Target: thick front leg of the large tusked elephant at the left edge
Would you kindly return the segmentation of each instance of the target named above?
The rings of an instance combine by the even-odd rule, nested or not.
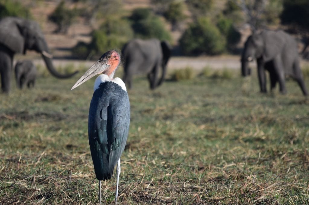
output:
[[[13,54],[0,49],[1,89],[5,93],[11,90],[12,58]]]

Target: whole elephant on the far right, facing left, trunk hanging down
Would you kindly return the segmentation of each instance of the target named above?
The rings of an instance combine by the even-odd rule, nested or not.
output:
[[[281,94],[286,94],[285,77],[291,76],[307,96],[303,74],[299,65],[296,41],[282,30],[262,30],[248,37],[241,56],[243,76],[250,75],[248,63],[256,59],[260,91],[266,93],[265,70],[269,72],[270,90],[279,82]]]

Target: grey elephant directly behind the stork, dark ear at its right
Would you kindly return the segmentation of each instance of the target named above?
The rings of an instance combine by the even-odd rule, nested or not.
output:
[[[133,39],[122,49],[124,59],[123,81],[130,89],[134,74],[147,74],[150,89],[155,89],[164,81],[166,65],[171,56],[171,48],[158,39]],[[158,79],[160,68],[162,76]]]

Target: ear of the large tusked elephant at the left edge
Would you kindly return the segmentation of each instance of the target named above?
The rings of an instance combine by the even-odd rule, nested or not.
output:
[[[15,53],[23,53],[25,39],[20,32],[20,18],[6,17],[0,21],[0,43]]]

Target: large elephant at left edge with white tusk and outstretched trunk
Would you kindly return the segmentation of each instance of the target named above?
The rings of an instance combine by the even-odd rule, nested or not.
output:
[[[0,28],[0,75],[1,88],[4,93],[8,93],[11,88],[14,54],[26,54],[26,50],[35,50],[40,53],[49,72],[57,78],[70,78],[78,72],[70,74],[57,72],[44,35],[35,21],[19,17],[5,17],[0,20]]]

